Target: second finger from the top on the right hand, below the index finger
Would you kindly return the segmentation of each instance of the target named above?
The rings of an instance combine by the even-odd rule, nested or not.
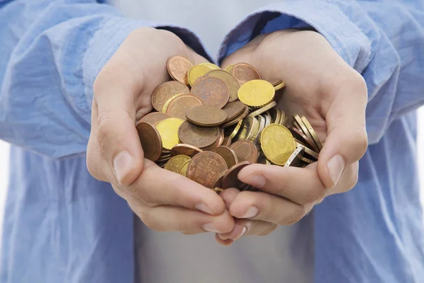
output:
[[[230,214],[240,219],[254,219],[279,225],[292,225],[312,209],[266,192],[240,192],[230,205]]]

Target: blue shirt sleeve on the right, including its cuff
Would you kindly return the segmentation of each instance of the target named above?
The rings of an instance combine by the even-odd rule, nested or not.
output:
[[[307,26],[365,78],[370,144],[393,120],[423,105],[421,1],[287,0],[264,6],[228,33],[218,62],[261,33]]]

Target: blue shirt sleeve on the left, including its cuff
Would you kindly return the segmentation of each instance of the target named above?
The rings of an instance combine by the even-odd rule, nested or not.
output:
[[[51,158],[85,152],[94,80],[143,26],[171,30],[209,58],[188,30],[97,1],[0,0],[0,139]]]

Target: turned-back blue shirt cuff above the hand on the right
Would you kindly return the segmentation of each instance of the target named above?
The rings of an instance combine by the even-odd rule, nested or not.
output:
[[[345,62],[361,73],[370,62],[371,43],[367,33],[371,32],[371,27],[367,27],[367,21],[361,25],[360,21],[351,20],[360,17],[368,18],[362,9],[343,6],[341,1],[289,0],[270,4],[251,13],[228,33],[220,45],[217,61],[222,62],[261,33],[310,26],[329,41]]]

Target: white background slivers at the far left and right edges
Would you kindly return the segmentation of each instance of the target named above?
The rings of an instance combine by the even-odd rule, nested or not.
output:
[[[418,110],[418,144],[424,144],[424,108]],[[424,204],[424,149],[418,146],[419,171],[421,177],[421,202]],[[4,201],[8,177],[8,144],[0,141],[0,231],[4,217]],[[0,233],[1,235],[1,233]],[[1,237],[1,236],[0,236]]]

